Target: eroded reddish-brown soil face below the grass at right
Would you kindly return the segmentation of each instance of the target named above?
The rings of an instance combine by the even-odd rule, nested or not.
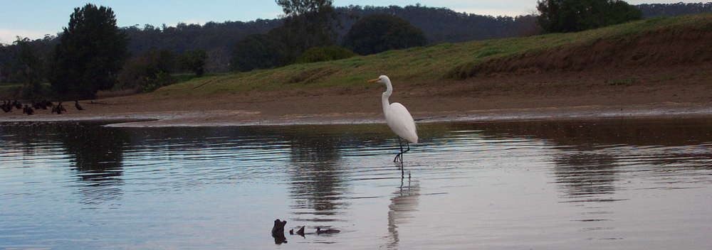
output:
[[[493,58],[477,65],[461,65],[451,77],[493,74],[530,74],[595,69],[672,67],[712,62],[712,32],[708,28],[663,29],[631,37],[595,40],[521,55]]]

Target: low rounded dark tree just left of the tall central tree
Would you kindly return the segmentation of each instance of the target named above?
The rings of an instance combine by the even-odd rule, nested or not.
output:
[[[242,72],[284,65],[286,48],[271,36],[247,36],[235,45],[231,66]]]

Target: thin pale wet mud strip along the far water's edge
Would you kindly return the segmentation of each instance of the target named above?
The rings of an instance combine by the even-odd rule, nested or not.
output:
[[[227,115],[226,115],[227,114]],[[528,120],[589,120],[589,119],[676,119],[712,117],[712,107],[695,104],[653,104],[632,107],[582,106],[563,108],[486,109],[466,112],[414,112],[416,123],[493,122]],[[329,113],[264,115],[244,110],[214,110],[209,112],[141,112],[114,115],[79,114],[72,116],[0,117],[0,124],[106,121],[104,126],[124,128],[200,127],[200,126],[290,126],[327,124],[384,124],[379,113]],[[112,123],[115,121],[115,123]]]

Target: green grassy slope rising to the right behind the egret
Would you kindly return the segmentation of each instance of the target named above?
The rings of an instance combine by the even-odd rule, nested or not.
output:
[[[599,40],[629,40],[659,30],[712,31],[712,13],[650,18],[579,33],[554,33],[525,38],[444,43],[391,50],[345,60],[288,65],[271,70],[200,77],[158,89],[159,95],[230,94],[250,90],[288,90],[322,87],[368,88],[365,81],[389,75],[398,82],[426,84],[454,77],[458,70],[495,58],[542,50],[593,44]]]

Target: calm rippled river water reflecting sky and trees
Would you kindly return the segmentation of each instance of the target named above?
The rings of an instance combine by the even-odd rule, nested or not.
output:
[[[712,119],[1,124],[0,249],[711,249]],[[286,235],[305,226],[337,234]]]

